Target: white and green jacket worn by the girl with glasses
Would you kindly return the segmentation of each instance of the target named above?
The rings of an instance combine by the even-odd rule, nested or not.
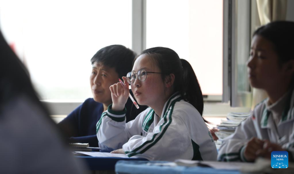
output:
[[[128,157],[148,160],[216,160],[217,149],[201,115],[193,105],[174,94],[159,117],[147,108],[125,123],[125,110],[108,110],[97,123],[101,151],[121,149]]]

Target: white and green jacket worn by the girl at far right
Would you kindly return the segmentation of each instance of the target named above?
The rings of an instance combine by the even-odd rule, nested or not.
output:
[[[268,100],[256,105],[252,115],[224,140],[219,150],[219,161],[246,161],[244,150],[252,137],[281,145],[293,160],[294,93],[288,92],[271,105],[268,105]]]

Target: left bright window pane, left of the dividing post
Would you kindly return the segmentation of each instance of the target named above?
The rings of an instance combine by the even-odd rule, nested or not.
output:
[[[17,5],[16,5],[17,4]],[[1,0],[0,25],[42,99],[92,96],[92,56],[132,45],[131,0]]]

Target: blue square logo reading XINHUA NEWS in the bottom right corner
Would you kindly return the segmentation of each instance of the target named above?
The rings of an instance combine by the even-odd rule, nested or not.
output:
[[[271,168],[286,169],[288,168],[288,151],[271,152]]]

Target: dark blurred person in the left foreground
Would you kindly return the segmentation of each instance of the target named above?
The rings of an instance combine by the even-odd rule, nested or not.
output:
[[[41,65],[42,66],[42,65]],[[0,32],[0,173],[79,174],[28,72]]]

